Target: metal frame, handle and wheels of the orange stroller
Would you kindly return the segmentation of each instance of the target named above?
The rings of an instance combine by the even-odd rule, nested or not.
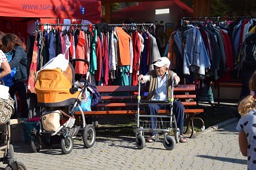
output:
[[[73,61],[86,62],[86,64],[88,65],[88,70],[90,68],[90,64],[87,60],[83,60],[83,59],[70,60],[70,62],[73,62]],[[32,146],[33,152],[39,152],[40,149],[42,149],[42,141],[46,146],[51,145],[51,136],[58,135],[58,136],[61,136],[62,153],[68,154],[73,149],[73,145],[74,145],[73,140],[74,138],[76,138],[77,134],[79,133],[79,130],[83,130],[82,137],[83,137],[84,146],[86,148],[89,148],[94,145],[95,139],[96,139],[96,131],[94,126],[92,126],[92,124],[86,125],[85,115],[83,114],[83,110],[80,107],[80,100],[79,100],[79,98],[82,97],[82,94],[86,91],[86,88],[88,88],[88,77],[89,77],[89,71],[86,74],[86,80],[82,80],[79,82],[79,87],[73,86],[70,89],[70,91],[72,91],[73,94],[79,91],[79,95],[76,98],[76,101],[74,102],[74,105],[71,107],[71,109],[70,107],[68,107],[68,114],[64,113],[64,111],[61,110],[61,114],[64,114],[65,116],[69,117],[68,121],[62,124],[55,132],[43,131],[43,126],[41,121],[38,121],[38,124],[37,124],[38,128],[34,127],[32,129],[30,145]],[[76,106],[79,108],[80,112],[82,113],[83,124],[81,126],[74,126],[74,111]],[[63,107],[67,107],[67,106],[63,106]],[[41,137],[44,137],[43,140],[41,139]]]

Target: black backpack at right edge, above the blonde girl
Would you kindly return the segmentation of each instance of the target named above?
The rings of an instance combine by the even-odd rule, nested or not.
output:
[[[245,39],[245,68],[256,68],[256,33],[251,34]]]

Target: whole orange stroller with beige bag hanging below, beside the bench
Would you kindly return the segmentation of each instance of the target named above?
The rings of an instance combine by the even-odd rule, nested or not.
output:
[[[70,62],[72,61],[85,62],[89,70],[87,60],[70,60]],[[86,75],[86,81],[80,83],[81,86],[74,86],[74,68],[69,62],[65,72],[60,68],[42,69],[38,72],[35,91],[38,106],[42,107],[42,117],[38,121],[38,127],[33,128],[31,132],[30,144],[33,152],[39,152],[42,143],[45,143],[46,146],[51,145],[51,136],[58,135],[61,138],[62,153],[68,154],[73,149],[73,140],[79,130],[83,130],[82,137],[85,147],[89,148],[94,145],[95,128],[92,124],[86,125],[85,116],[80,107],[80,99],[88,87],[88,76],[89,72]],[[76,107],[79,107],[82,113],[83,125],[81,126],[74,126]],[[48,115],[50,116],[48,117]],[[48,119],[48,121],[45,121],[45,119]],[[60,124],[60,120],[63,124]]]

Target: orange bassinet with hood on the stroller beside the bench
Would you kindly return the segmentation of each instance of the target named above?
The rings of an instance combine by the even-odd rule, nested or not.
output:
[[[74,104],[79,92],[70,93],[72,86],[70,65],[65,72],[61,69],[43,69],[38,72],[35,91],[40,107],[63,107]]]

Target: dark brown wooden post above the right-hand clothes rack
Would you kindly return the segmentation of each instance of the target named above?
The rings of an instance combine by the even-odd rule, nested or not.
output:
[[[210,0],[193,0],[193,17],[209,17]]]

